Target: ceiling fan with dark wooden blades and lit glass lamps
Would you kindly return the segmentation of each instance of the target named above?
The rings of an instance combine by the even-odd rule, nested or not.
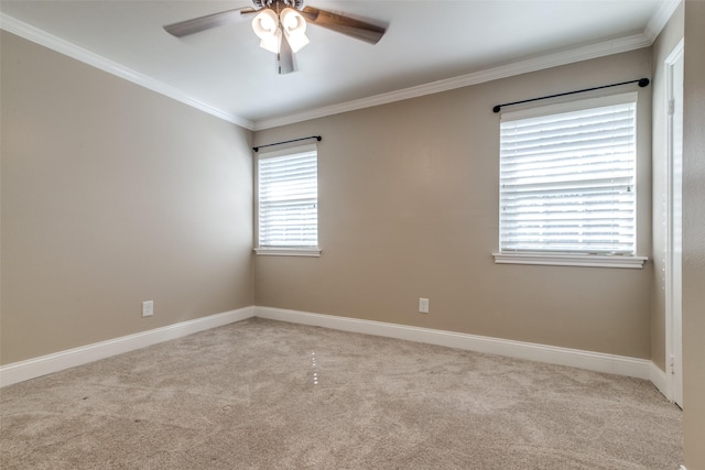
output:
[[[294,72],[294,53],[308,44],[306,24],[315,24],[337,33],[377,44],[384,28],[338,13],[304,7],[304,0],[252,0],[254,8],[238,8],[194,18],[164,26],[167,33],[182,37],[253,15],[252,29],[260,47],[276,54],[279,74]]]

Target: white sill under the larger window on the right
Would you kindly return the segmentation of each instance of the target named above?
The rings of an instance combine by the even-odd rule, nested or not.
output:
[[[646,256],[622,254],[492,253],[496,264],[540,264],[549,266],[625,267],[641,270]]]

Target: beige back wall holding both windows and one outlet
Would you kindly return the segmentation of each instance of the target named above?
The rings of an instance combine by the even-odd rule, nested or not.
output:
[[[651,51],[257,132],[323,135],[319,259],[257,256],[257,305],[650,358],[642,271],[497,265],[492,106],[651,76]],[[651,89],[639,90],[639,254],[651,256]],[[417,311],[419,297],[431,313]]]

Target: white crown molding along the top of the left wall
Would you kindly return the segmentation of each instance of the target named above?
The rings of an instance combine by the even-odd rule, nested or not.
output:
[[[239,116],[235,116],[232,113],[218,109],[215,106],[208,105],[207,102],[204,102],[188,94],[185,94],[177,88],[159,81],[129,67],[124,67],[113,61],[102,57],[68,41],[62,40],[61,37],[42,31],[39,28],[32,26],[2,12],[0,12],[0,29],[12,34],[17,34],[18,36],[23,37],[28,41],[32,41],[33,43],[43,45],[44,47],[48,47],[52,51],[56,51],[61,54],[67,55],[72,58],[75,58],[76,61],[83,62],[84,64],[88,64],[93,67],[99,68],[104,72],[107,72],[108,74],[123,78],[160,95],[164,95],[169,98],[175,99],[176,101],[181,101],[184,105],[188,105],[208,114],[215,116],[216,118],[240,125],[245,129],[253,130],[254,128],[252,121],[242,119]]]

